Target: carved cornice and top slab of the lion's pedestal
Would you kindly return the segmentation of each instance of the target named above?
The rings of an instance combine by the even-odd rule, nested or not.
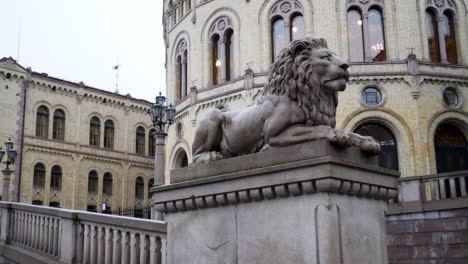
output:
[[[151,191],[155,209],[166,213],[316,193],[393,199],[399,173],[374,162],[320,140],[174,170],[171,185]]]

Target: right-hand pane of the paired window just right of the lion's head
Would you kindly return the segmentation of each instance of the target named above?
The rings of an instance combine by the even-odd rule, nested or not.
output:
[[[379,10],[369,12],[369,42],[373,61],[385,60],[385,41],[382,13]]]

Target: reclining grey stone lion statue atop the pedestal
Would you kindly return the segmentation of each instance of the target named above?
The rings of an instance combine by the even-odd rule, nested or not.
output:
[[[293,41],[270,67],[257,104],[239,111],[212,109],[197,127],[193,162],[328,139],[378,154],[371,137],[335,129],[338,92],[349,79],[348,65],[330,51],[325,39]]]

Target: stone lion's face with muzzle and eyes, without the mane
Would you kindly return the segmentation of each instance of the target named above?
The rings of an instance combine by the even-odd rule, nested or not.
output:
[[[349,80],[348,64],[327,48],[313,48],[311,65],[314,65],[322,89],[341,92]]]

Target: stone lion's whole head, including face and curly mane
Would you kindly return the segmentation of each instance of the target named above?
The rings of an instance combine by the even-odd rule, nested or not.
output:
[[[270,67],[265,94],[288,95],[304,110],[307,125],[336,125],[338,92],[346,89],[348,65],[321,38],[293,41]]]

